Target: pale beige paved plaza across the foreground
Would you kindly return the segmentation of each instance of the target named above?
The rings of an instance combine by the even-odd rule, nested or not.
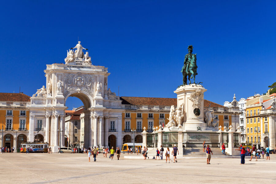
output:
[[[276,156],[240,165],[240,159],[213,158],[165,160],[103,158],[88,162],[86,154],[3,153],[2,183],[257,183],[276,181]],[[115,157],[114,157],[115,158]],[[181,175],[180,175],[181,174]]]

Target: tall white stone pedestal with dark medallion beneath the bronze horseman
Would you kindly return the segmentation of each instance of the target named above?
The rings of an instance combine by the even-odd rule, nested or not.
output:
[[[203,86],[190,84],[180,86],[174,93],[177,94],[177,106],[184,103],[184,117],[182,119],[182,130],[197,131],[207,130],[204,122],[204,95],[207,91]]]

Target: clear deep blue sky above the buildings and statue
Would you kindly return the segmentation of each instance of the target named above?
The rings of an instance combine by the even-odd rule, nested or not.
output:
[[[1,92],[34,94],[46,64],[64,62],[78,36],[120,96],[176,98],[190,44],[205,99],[223,104],[276,82],[275,1],[9,2],[0,7]]]

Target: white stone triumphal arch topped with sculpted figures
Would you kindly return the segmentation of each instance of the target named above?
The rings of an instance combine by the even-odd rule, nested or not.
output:
[[[88,52],[84,53],[88,49],[80,43],[67,50],[64,63],[47,64],[44,70],[46,87],[42,86],[31,97],[29,141],[33,141],[34,135],[39,133],[54,152],[58,151],[59,141],[64,146],[68,97],[79,98],[85,107],[84,147],[108,145],[110,119],[114,120],[118,129],[122,126],[121,100],[108,89],[108,68],[95,66]],[[42,126],[37,123],[38,119],[42,120]],[[118,144],[121,145],[120,142]]]

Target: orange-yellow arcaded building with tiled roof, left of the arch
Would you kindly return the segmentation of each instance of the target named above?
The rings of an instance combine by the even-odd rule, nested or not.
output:
[[[0,122],[3,124],[0,147],[3,145],[5,148],[17,149],[22,142],[27,141],[29,103],[30,97],[23,93],[0,93]]]

